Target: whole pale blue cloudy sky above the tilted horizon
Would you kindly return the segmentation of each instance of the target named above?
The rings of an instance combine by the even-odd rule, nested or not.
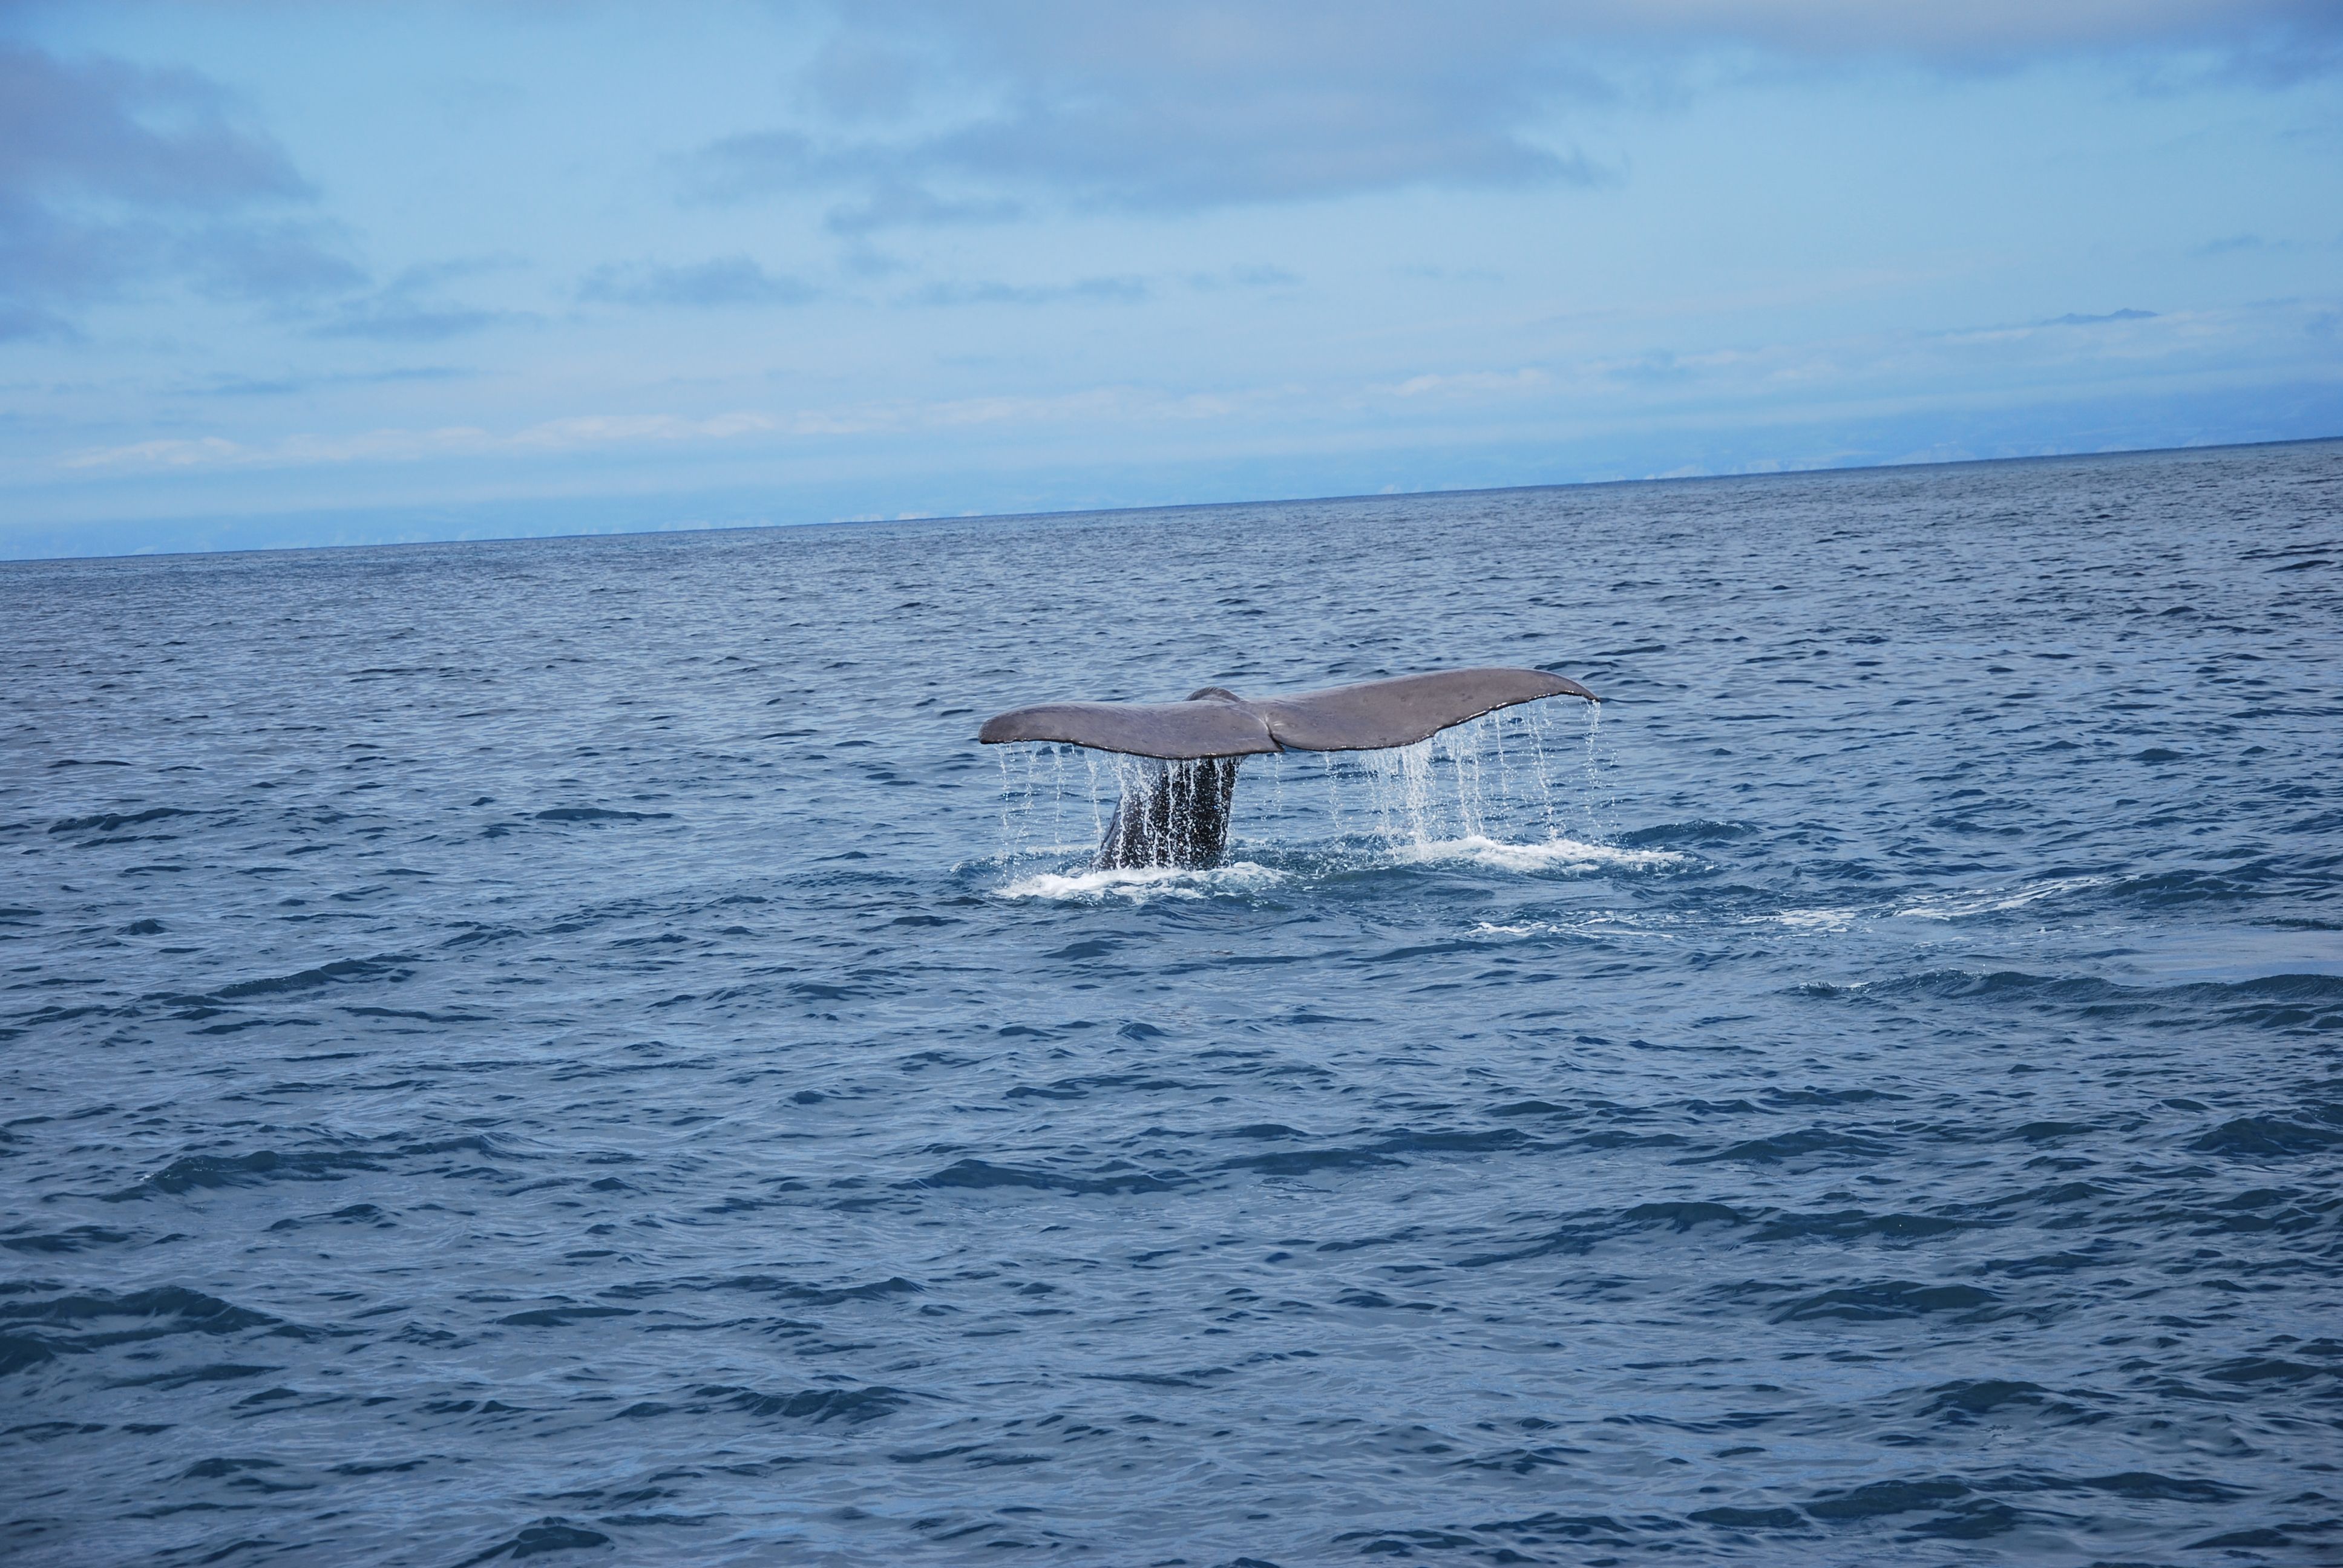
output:
[[[0,555],[2343,436],[2336,0],[0,0]]]

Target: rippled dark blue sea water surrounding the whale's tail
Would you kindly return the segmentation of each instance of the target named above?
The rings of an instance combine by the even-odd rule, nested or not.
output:
[[[2343,1561],[2338,445],[0,623],[9,1561]],[[1204,877],[970,741],[1453,663]]]

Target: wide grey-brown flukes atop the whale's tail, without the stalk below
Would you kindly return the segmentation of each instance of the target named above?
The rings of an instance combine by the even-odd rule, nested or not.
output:
[[[1544,670],[1439,670],[1300,696],[1242,698],[1204,687],[1186,703],[1040,703],[984,720],[977,741],[1064,741],[1127,757],[1195,762],[1261,752],[1368,752],[1542,696],[1593,691]]]

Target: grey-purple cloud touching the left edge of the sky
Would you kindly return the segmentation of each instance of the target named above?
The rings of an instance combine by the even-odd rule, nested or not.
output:
[[[314,190],[185,70],[0,45],[0,338],[73,338],[73,312],[152,284],[309,300],[363,274]]]

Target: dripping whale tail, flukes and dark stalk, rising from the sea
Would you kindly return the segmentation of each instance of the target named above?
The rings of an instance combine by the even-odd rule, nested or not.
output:
[[[1097,870],[1202,870],[1228,853],[1237,764],[1246,757],[1415,745],[1483,713],[1549,696],[1603,701],[1546,670],[1434,670],[1293,696],[1200,687],[1179,703],[1036,703],[984,720],[977,741],[1054,741],[1143,757],[1150,766],[1115,804]]]

